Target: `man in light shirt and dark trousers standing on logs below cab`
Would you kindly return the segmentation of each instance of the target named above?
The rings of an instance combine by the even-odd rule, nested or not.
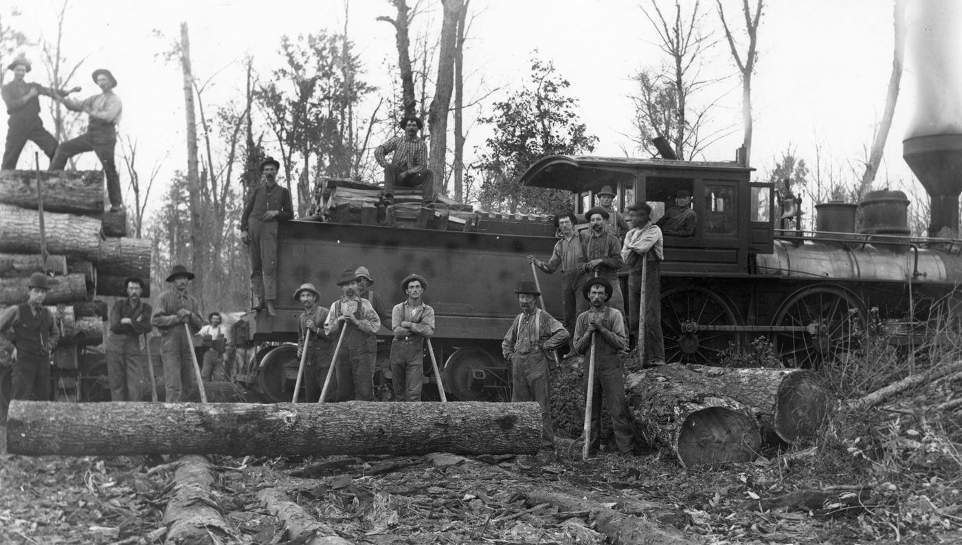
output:
[[[647,262],[645,278],[645,353],[638,358],[648,365],[665,364],[665,340],[661,329],[661,271],[659,263],[665,258],[662,234],[651,217],[651,207],[645,202],[635,203],[631,212],[633,229],[624,236],[621,257],[631,272],[628,274],[628,307],[631,332],[638,344],[639,311],[641,310],[642,267]]]

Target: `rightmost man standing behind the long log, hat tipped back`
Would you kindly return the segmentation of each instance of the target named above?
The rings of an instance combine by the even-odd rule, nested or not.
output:
[[[424,377],[424,341],[434,334],[434,309],[421,300],[427,280],[410,274],[401,280],[404,302],[394,305],[391,324],[391,379],[395,402],[419,402]]]

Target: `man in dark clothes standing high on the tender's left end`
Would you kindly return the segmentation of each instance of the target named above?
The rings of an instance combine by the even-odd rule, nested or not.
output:
[[[268,157],[261,163],[264,183],[250,193],[241,214],[241,242],[250,252],[250,289],[254,310],[267,309],[276,316],[277,222],[293,220],[291,192],[277,183],[281,164]]]

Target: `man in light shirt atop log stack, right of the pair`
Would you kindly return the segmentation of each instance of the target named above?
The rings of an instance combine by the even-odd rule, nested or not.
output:
[[[89,118],[86,133],[57,146],[57,153],[50,161],[50,170],[63,170],[67,159],[78,153],[96,153],[104,167],[104,174],[107,175],[107,195],[111,200],[111,212],[119,212],[123,208],[123,194],[120,193],[120,177],[114,165],[114,145],[117,142],[116,126],[120,124],[123,104],[114,92],[117,80],[110,70],[98,68],[93,70],[91,77],[100,88],[100,94],[94,94],[85,100],[57,99],[67,110],[84,112]]]

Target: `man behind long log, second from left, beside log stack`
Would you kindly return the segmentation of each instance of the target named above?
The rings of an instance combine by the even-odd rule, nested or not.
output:
[[[150,324],[150,305],[140,300],[143,280],[126,278],[127,298],[117,299],[111,307],[111,338],[107,343],[107,377],[111,400],[139,402],[143,396],[143,335]],[[148,363],[149,365],[149,363]]]

